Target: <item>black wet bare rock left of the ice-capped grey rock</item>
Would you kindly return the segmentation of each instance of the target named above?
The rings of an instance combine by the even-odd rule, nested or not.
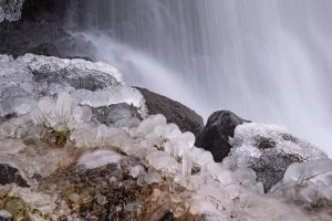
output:
[[[196,139],[195,146],[209,150],[215,161],[221,161],[230,151],[229,137],[234,136],[235,128],[245,120],[231,112],[215,112]]]

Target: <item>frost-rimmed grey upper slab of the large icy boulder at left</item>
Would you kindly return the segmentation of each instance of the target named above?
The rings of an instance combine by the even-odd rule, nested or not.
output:
[[[74,88],[95,91],[122,84],[122,76],[117,70],[101,62],[34,54],[25,54],[17,61],[31,70],[37,82],[45,82],[49,85],[68,83]]]

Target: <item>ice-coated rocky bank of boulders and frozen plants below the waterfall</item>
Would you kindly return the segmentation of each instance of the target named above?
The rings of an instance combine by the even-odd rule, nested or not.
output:
[[[56,7],[22,2],[0,0],[0,220],[332,219],[318,147],[228,110],[204,126],[110,64],[64,59],[50,42],[66,33],[43,36]]]

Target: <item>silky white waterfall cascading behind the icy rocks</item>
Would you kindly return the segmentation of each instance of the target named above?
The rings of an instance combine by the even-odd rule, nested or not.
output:
[[[205,118],[230,109],[332,150],[330,0],[71,1],[97,60]],[[81,32],[82,33],[82,32]]]

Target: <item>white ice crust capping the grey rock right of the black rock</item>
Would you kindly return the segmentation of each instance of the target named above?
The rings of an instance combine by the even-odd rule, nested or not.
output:
[[[283,126],[247,123],[239,125],[231,139],[231,154],[237,165],[248,166],[252,158],[273,149],[276,155],[289,155],[299,161],[326,158],[326,154],[310,143],[293,137]]]

